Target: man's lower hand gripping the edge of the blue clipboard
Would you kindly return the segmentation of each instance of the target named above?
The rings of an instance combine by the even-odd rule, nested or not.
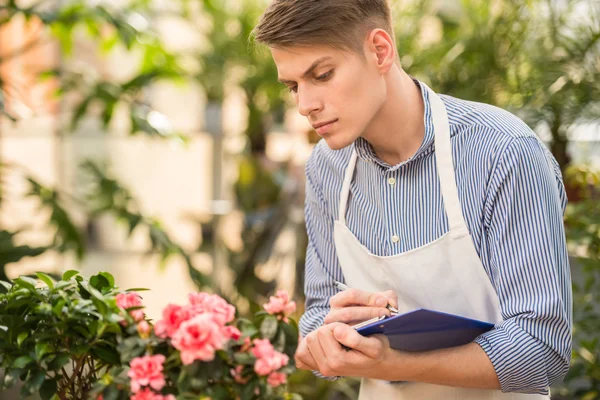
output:
[[[346,350],[342,345],[349,348]],[[342,323],[323,325],[304,338],[296,351],[296,366],[324,376],[377,377],[391,349],[382,335],[364,337]]]

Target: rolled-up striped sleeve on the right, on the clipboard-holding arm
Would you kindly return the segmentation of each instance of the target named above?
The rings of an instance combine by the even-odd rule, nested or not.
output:
[[[548,394],[571,358],[572,292],[556,161],[535,137],[518,137],[492,172],[484,261],[503,322],[476,339],[503,392]],[[484,257],[482,257],[484,258]]]

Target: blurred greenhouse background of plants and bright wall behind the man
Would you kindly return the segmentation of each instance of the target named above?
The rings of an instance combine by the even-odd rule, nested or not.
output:
[[[157,319],[210,290],[302,313],[304,163],[318,136],[248,35],[267,0],[0,0],[0,279],[78,269]],[[391,1],[402,65],[508,109],[559,161],[574,348],[553,398],[600,398],[600,1]],[[298,372],[306,399],[357,382]],[[16,398],[14,393],[0,399]]]

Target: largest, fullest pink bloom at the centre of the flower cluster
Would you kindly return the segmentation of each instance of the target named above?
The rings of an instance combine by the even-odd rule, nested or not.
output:
[[[181,351],[181,362],[190,365],[194,360],[212,361],[227,340],[221,328],[213,314],[200,314],[183,322],[172,338],[173,347]]]

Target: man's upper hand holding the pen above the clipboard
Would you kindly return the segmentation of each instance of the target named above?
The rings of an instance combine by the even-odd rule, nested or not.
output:
[[[391,291],[370,293],[359,289],[349,289],[333,296],[331,310],[325,317],[325,324],[343,322],[354,325],[382,315],[390,315],[387,305],[398,307],[398,296]]]

